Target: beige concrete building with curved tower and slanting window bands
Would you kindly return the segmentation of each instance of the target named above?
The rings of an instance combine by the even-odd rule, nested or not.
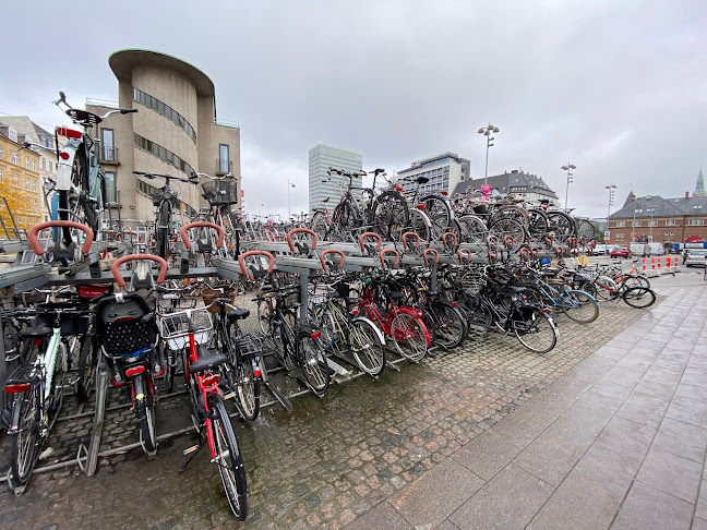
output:
[[[239,198],[232,208],[240,209],[240,129],[216,120],[216,92],[208,76],[180,59],[142,49],[116,51],[108,64],[118,79],[117,106],[137,109],[99,125],[106,196],[120,205],[123,225],[154,220],[151,194],[164,185],[163,179],[147,180],[133,170],[180,178],[230,171]],[[86,109],[97,115],[115,106],[86,101]],[[185,213],[208,205],[201,185],[175,182],[173,188]]]

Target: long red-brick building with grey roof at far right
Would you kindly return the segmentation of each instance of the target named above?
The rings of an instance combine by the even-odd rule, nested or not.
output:
[[[628,194],[621,209],[609,218],[611,242],[657,242],[666,245],[707,241],[707,193],[702,169],[695,192],[678,198]]]

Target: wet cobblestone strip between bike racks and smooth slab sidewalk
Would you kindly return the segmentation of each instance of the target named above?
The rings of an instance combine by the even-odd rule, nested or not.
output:
[[[659,299],[661,300],[662,297]],[[340,528],[444,463],[462,446],[522,407],[534,395],[646,312],[622,302],[602,304],[598,321],[577,325],[559,316],[560,341],[546,356],[514,337],[490,334],[462,348],[402,364],[378,381],[358,377],[323,399],[293,400],[293,411],[266,409],[253,424],[235,422],[249,480],[249,511],[237,523],[206,453],[182,473],[189,435],[103,458],[86,478],[76,467],[33,477],[15,497],[0,485],[3,528]],[[113,392],[111,400],[128,400]],[[157,409],[158,433],[189,425],[183,396]],[[91,418],[58,422],[41,465],[73,455]],[[111,412],[101,449],[136,441],[132,412]],[[0,441],[0,471],[9,441]]]

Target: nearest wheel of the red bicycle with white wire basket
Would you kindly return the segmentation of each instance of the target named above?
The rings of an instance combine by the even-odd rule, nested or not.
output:
[[[218,466],[228,505],[236,518],[242,521],[248,515],[248,482],[238,439],[226,412],[224,399],[218,394],[208,398],[208,409],[212,412],[209,422],[214,439],[213,461]]]

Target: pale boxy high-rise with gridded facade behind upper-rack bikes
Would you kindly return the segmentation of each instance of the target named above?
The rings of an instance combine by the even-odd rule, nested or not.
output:
[[[314,208],[324,205],[323,200],[328,198],[328,207],[334,212],[338,204],[341,192],[347,185],[348,179],[333,174],[329,177],[328,168],[345,169],[347,171],[360,171],[363,168],[363,155],[350,150],[329,147],[328,145],[316,145],[309,150],[309,210],[310,215]],[[331,180],[329,180],[331,179]],[[327,182],[322,182],[326,180]],[[362,178],[355,177],[354,185],[361,188]]]

